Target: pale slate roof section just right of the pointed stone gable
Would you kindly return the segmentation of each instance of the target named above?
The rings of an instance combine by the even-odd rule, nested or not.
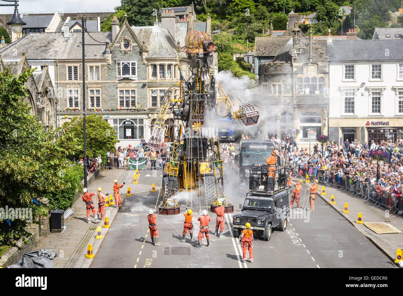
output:
[[[175,43],[168,30],[157,25],[131,28],[140,42],[145,41],[147,58],[176,58]]]

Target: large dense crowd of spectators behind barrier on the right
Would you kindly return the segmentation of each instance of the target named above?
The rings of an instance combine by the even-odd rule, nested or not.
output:
[[[343,186],[357,194],[368,197],[391,211],[403,211],[403,139],[393,141],[371,141],[362,145],[354,139],[343,143],[322,146],[315,143],[312,153],[298,149],[286,139],[272,139],[280,154],[293,170],[293,175],[320,179],[324,183]],[[295,143],[295,142],[294,142]],[[295,143],[296,144],[296,143]],[[370,151],[385,152],[383,160],[377,161]]]

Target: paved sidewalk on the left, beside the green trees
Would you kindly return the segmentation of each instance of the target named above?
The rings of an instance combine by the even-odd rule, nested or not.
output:
[[[125,207],[125,194],[127,188],[131,187],[132,196],[129,198],[135,198],[137,193],[145,192],[150,190],[150,186],[142,184],[132,184],[133,171],[125,170],[104,170],[100,173],[98,178],[96,178],[88,188],[88,192],[97,193],[97,188],[104,188],[104,194],[113,193],[113,180],[118,179],[120,182],[126,182],[125,186],[120,189],[120,195],[122,197],[122,206]],[[158,189],[158,188],[157,188]],[[92,198],[96,211],[98,211],[98,202],[96,196]],[[64,221],[64,226],[66,230],[60,233],[50,233],[45,237],[34,250],[39,250],[42,248],[51,249],[58,253],[58,256],[53,260],[54,268],[63,267],[89,267],[91,259],[86,259],[85,254],[87,252],[88,244],[94,244],[93,252],[96,253],[98,250],[102,239],[95,239],[96,229],[98,226],[103,225],[104,220],[100,223],[87,223],[86,218],[86,207],[85,203],[81,198],[72,205],[71,209],[74,214],[71,215],[66,221]],[[115,206],[105,207],[105,217],[109,217],[110,228],[102,228],[102,235],[105,236],[107,231],[113,230],[113,218],[115,217],[118,209]],[[91,221],[94,221],[93,214],[90,215]]]

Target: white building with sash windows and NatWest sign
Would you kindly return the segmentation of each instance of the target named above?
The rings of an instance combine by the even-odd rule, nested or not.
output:
[[[403,40],[327,45],[329,137],[375,142],[403,136]]]

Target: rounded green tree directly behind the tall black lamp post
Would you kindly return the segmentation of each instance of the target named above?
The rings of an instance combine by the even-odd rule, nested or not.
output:
[[[74,117],[72,121],[75,121]],[[65,122],[62,128],[71,125]],[[92,114],[86,117],[86,135],[87,135],[87,157],[96,157],[101,155],[105,157],[106,152],[114,149],[118,143],[115,129],[102,119],[102,116]],[[66,151],[66,157],[83,157],[83,120],[70,127],[63,137],[56,138],[56,143]]]

